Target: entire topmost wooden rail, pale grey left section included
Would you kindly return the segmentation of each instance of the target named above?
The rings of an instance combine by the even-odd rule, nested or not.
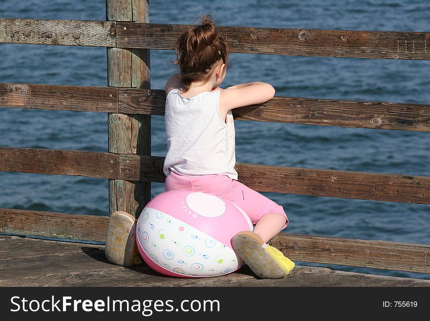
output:
[[[0,19],[0,43],[173,50],[183,24]],[[430,59],[429,32],[218,26],[230,52],[318,57]]]

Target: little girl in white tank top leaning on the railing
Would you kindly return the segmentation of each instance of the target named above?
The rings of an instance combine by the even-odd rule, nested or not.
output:
[[[262,82],[219,87],[229,53],[210,15],[183,32],[175,49],[173,64],[179,65],[180,73],[165,86],[165,191],[209,193],[236,204],[255,225],[253,232],[232,238],[237,255],[258,277],[283,278],[295,263],[266,242],[288,225],[288,218],[282,206],[237,181],[231,110],[264,103],[273,98],[275,89]]]

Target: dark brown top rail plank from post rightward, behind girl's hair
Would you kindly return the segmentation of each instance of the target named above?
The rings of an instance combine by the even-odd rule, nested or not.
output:
[[[174,50],[189,25],[118,22],[117,47]],[[217,26],[230,52],[292,56],[430,59],[429,32]]]

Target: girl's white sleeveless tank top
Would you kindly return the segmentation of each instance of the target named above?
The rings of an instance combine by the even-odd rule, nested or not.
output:
[[[237,180],[235,123],[232,111],[227,123],[219,115],[221,90],[183,97],[178,88],[166,97],[167,155],[163,171],[187,176],[227,175]]]

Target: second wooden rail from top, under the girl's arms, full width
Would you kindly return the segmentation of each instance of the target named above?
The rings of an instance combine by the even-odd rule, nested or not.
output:
[[[1,84],[0,107],[164,115],[158,89]],[[430,105],[276,96],[233,109],[236,120],[430,131]]]

